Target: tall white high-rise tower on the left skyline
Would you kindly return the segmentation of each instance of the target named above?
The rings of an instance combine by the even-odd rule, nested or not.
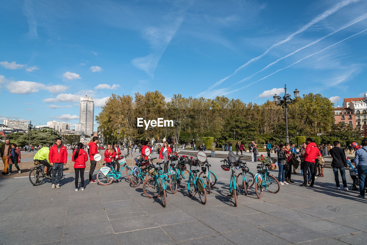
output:
[[[80,117],[79,123],[75,124],[75,131],[82,131],[84,134],[91,136],[94,124],[94,102],[87,95],[80,97]]]

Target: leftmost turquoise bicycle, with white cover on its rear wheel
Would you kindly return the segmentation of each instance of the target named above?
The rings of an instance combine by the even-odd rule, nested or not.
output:
[[[113,179],[119,180],[122,177],[122,171],[125,169],[126,175],[128,177],[128,179],[130,180],[130,175],[131,175],[131,169],[129,166],[127,166],[126,163],[126,157],[129,154],[124,155],[123,157],[117,158],[115,161],[117,164],[123,165],[123,167],[121,167],[121,170],[119,172],[116,172],[115,168],[112,167],[101,167],[98,171],[97,171],[97,181],[99,184],[101,185],[109,185],[112,183]],[[103,163],[103,165],[105,165],[105,163]],[[112,165],[112,163],[111,163]]]

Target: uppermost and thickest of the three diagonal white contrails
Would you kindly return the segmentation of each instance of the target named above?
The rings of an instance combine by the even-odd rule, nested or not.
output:
[[[219,84],[221,84],[222,82],[224,82],[225,80],[227,80],[228,78],[230,78],[231,76],[233,76],[237,71],[239,71],[240,69],[244,68],[245,66],[249,65],[250,63],[264,57],[267,53],[269,53],[270,50],[272,50],[274,47],[277,47],[285,42],[288,42],[289,40],[291,40],[295,35],[297,35],[298,33],[304,32],[306,29],[308,29],[310,26],[316,24],[319,21],[322,21],[323,19],[327,18],[328,16],[334,14],[336,11],[338,11],[339,9],[347,6],[350,3],[356,3],[360,0],[344,0],[338,4],[336,4],[334,7],[326,10],[325,12],[323,12],[322,14],[320,14],[319,16],[317,16],[316,18],[312,19],[312,21],[308,22],[306,25],[302,26],[302,28],[298,29],[296,32],[292,33],[291,35],[289,35],[286,39],[281,40],[278,43],[273,44],[270,48],[268,48],[263,54],[259,55],[258,57],[252,58],[251,60],[247,61],[244,65],[240,66],[239,68],[236,69],[235,72],[233,72],[231,75],[227,76],[226,78],[223,78],[221,80],[219,80],[218,82],[214,83],[213,85],[211,85],[206,91],[211,90],[214,87],[217,87]],[[201,96],[202,94],[204,94],[206,91],[201,92],[200,94],[198,94],[196,97]]]

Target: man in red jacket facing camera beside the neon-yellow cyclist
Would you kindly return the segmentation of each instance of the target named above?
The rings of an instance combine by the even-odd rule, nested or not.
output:
[[[60,179],[62,169],[68,160],[68,151],[61,143],[61,138],[56,139],[56,144],[53,145],[48,153],[48,160],[52,166],[52,186],[51,189],[60,188]],[[56,176],[57,173],[57,176]]]

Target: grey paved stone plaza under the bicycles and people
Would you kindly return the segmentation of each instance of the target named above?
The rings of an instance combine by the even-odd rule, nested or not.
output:
[[[331,169],[314,188],[299,187],[301,175],[261,199],[252,187],[234,207],[227,202],[230,173],[220,160],[208,158],[218,182],[206,205],[179,188],[177,194],[168,191],[163,208],[160,200],[145,197],[142,184],[134,188],[126,178],[107,186],[86,181],[77,192],[73,173],[64,174],[54,190],[50,182],[33,186],[28,177],[0,179],[0,243],[367,244],[367,199],[334,190]],[[248,166],[254,171],[253,163]]]

